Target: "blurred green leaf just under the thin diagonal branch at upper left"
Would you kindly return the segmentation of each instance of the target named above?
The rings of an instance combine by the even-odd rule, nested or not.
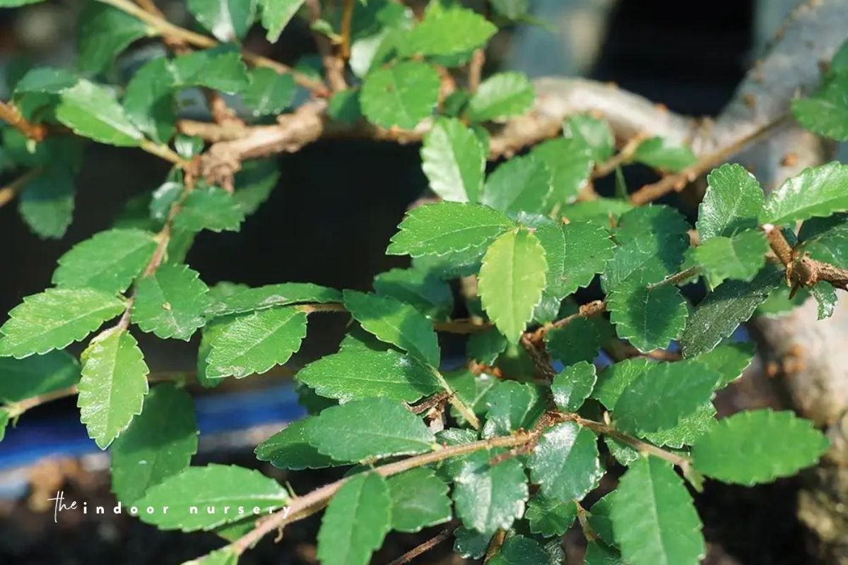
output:
[[[171,61],[170,70],[175,86],[206,86],[236,94],[250,84],[242,54],[232,45],[180,55]]]

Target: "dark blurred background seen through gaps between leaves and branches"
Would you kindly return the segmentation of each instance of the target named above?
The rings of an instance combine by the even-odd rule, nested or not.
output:
[[[487,71],[518,69],[531,77],[589,76],[615,82],[679,113],[713,115],[728,102],[745,70],[798,2],[530,3],[533,16],[545,26],[520,25],[501,31],[490,49]],[[72,67],[75,14],[81,4],[62,0],[0,10],[0,75],[22,58]],[[192,25],[181,2],[159,0],[158,5],[176,23]],[[314,51],[309,30],[298,22],[274,46],[265,42],[259,29],[248,36],[247,43],[251,50],[287,64],[298,64]],[[119,60],[118,72],[130,69],[131,63]],[[202,117],[204,108],[189,111]],[[109,228],[127,202],[153,191],[168,172],[166,163],[142,152],[93,144],[86,151],[77,178],[74,222],[64,239],[42,241],[33,235],[14,202],[0,208],[0,319],[24,296],[50,285],[56,259],[70,246]],[[406,266],[406,259],[383,252],[404,210],[427,189],[418,147],[321,141],[278,159],[282,171],[278,186],[269,201],[248,217],[240,233],[198,236],[187,263],[207,284],[310,281],[367,290],[375,274]],[[639,186],[639,175],[646,173],[635,170],[632,174],[631,186]],[[600,191],[607,189],[611,187],[600,186]],[[310,335],[292,367],[334,351],[343,330],[343,319],[310,321]],[[192,373],[198,335],[189,343],[150,339],[140,332],[137,337],[153,373]],[[460,344],[445,345],[461,353]],[[252,455],[260,440],[303,413],[282,371],[237,384],[230,379],[211,392],[191,390],[198,398],[202,431],[195,464],[214,461],[261,468],[278,479],[291,480],[298,492],[332,479],[331,472],[289,477],[263,467]],[[75,399],[26,413],[0,443],[0,563],[170,565],[220,545],[214,535],[160,533],[128,516],[65,512],[59,523],[53,523],[53,503],[47,498],[57,490],[89,501],[89,506],[114,506],[108,467],[108,455],[86,439]],[[710,542],[709,562],[807,562],[795,520],[795,490],[791,479],[757,489],[708,485],[697,503]],[[315,518],[298,523],[286,530],[280,545],[266,540],[243,563],[315,562],[310,540],[317,524]],[[388,562],[421,539],[394,536],[374,562]],[[433,552],[429,562],[452,562],[449,544],[442,549]]]

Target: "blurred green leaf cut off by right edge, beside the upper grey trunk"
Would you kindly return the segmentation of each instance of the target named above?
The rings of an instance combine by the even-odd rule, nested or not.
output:
[[[819,136],[848,140],[848,75],[836,73],[812,96],[793,100],[792,114]]]

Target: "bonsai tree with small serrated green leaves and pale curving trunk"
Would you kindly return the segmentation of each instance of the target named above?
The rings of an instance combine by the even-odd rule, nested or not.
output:
[[[0,424],[75,395],[110,451],[118,501],[160,529],[220,535],[219,550],[193,561],[204,565],[236,563],[317,512],[326,564],[363,565],[390,531],[439,524],[397,562],[446,540],[490,563],[563,562],[573,526],[590,565],[695,564],[705,542],[693,493],[705,480],[796,474],[828,451],[826,435],[834,451],[802,510],[813,529],[823,517],[845,524],[833,481],[845,481],[848,166],[821,164],[820,141],[848,139],[844,2],[793,14],[711,124],[588,80],[483,76],[489,40],[527,19],[527,2],[186,8],[195,21],[177,25],[149,0],[86,2],[75,68],[28,69],[0,104],[16,174],[0,195],[41,237],[71,222],[86,144],[172,165],[147,205],[71,247],[53,286],[8,313]],[[276,42],[301,17],[321,72],[242,45],[254,25]],[[128,77],[110,72],[151,37],[160,52],[145,51]],[[203,91],[209,120],[181,114],[187,89]],[[409,268],[377,274],[371,291],[205,284],[186,264],[194,236],[239,230],[276,185],[276,155],[325,136],[421,144],[432,194],[386,242]],[[629,163],[658,180],[631,190]],[[594,190],[607,175],[612,197]],[[704,175],[706,189],[695,183]],[[700,200],[694,226],[657,202],[684,190]],[[598,299],[577,302],[589,285]],[[706,296],[693,303],[684,285]],[[791,323],[756,321],[757,346],[739,338],[758,307],[788,310],[809,295]],[[837,314],[814,325],[810,307]],[[295,375],[310,416],[255,452],[278,468],[345,474],[295,495],[254,469],[191,465],[192,397],[150,377],[134,335],[199,335],[196,378],[212,388],[287,363],[317,315],[348,317],[349,332]],[[459,368],[440,351],[446,334],[466,337]],[[78,341],[79,359],[64,351]],[[794,373],[790,396],[810,419],[770,409],[717,419],[714,395],[758,353]],[[586,504],[607,474],[615,489]],[[823,538],[823,555],[844,562],[845,539]]]

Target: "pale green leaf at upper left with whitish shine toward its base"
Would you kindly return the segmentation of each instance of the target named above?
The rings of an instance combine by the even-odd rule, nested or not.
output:
[[[144,139],[114,95],[88,80],[62,91],[56,119],[79,136],[109,145],[137,147]]]

